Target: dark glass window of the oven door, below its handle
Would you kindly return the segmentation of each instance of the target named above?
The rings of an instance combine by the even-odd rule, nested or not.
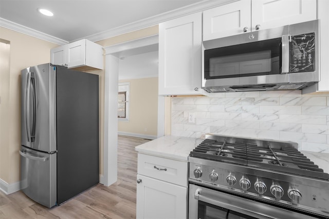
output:
[[[198,201],[198,219],[257,219],[239,212]]]

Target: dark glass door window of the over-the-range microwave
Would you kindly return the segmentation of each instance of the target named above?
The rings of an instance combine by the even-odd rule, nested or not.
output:
[[[207,49],[205,79],[280,74],[282,38]]]

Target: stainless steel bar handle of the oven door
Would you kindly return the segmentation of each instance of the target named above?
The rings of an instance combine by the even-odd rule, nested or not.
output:
[[[245,209],[245,208],[241,208],[241,207],[231,205],[229,203],[221,202],[221,201],[218,201],[218,200],[213,200],[212,198],[209,198],[207,196],[204,196],[204,195],[200,194],[201,191],[202,191],[202,189],[198,188],[198,189],[195,190],[195,193],[194,193],[194,198],[198,201],[206,202],[206,203],[209,203],[209,204],[212,204],[212,205],[215,205],[215,206],[220,206],[222,208],[230,209],[230,210],[240,212],[240,213],[243,213],[243,214],[246,214],[246,215],[252,215],[252,216],[255,216],[257,218],[268,218],[268,217],[262,217],[262,215],[260,215],[260,214],[255,214],[255,212],[253,212],[251,210],[248,210],[248,209]]]

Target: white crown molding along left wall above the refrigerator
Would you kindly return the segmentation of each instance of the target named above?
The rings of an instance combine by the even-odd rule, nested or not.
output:
[[[0,17],[0,27],[5,27],[10,30],[24,33],[26,35],[33,36],[33,37],[36,37],[39,39],[43,39],[44,41],[48,41],[50,43],[54,43],[57,45],[65,45],[68,43],[67,41],[64,41],[63,39],[48,35],[46,33],[40,32],[38,30],[34,30],[29,27],[25,27],[20,24],[16,24],[14,22],[8,21],[7,19],[1,18],[1,17]]]

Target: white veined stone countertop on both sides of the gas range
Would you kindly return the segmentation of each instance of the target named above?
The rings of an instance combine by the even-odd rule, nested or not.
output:
[[[204,139],[166,135],[156,140],[136,146],[139,153],[150,154],[178,161],[188,161],[190,152]],[[329,153],[301,151],[310,161],[329,173]]]

